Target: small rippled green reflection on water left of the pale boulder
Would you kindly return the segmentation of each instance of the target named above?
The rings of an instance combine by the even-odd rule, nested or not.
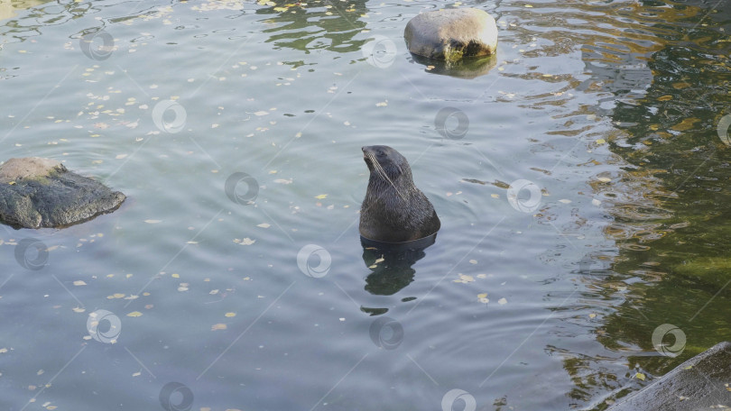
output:
[[[274,5],[272,5],[274,4]],[[353,40],[365,29],[361,15],[368,12],[365,0],[348,2],[267,2],[269,7],[256,14],[271,15],[265,23],[276,27],[264,29],[277,47],[287,47],[310,53],[310,50],[351,52],[360,50],[366,40]]]

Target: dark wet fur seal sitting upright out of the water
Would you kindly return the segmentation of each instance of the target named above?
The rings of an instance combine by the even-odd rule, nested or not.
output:
[[[371,176],[360,208],[360,235],[375,242],[411,242],[437,233],[440,218],[413,185],[406,158],[384,145],[362,150]]]

